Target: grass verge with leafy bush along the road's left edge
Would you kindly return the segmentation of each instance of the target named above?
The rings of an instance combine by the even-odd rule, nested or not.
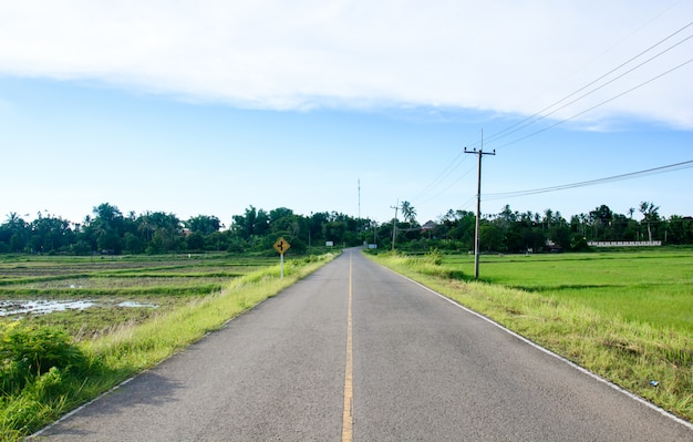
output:
[[[220,291],[144,323],[116,326],[95,340],[74,343],[60,329],[22,329],[17,322],[0,322],[0,441],[21,440],[221,328],[333,258],[328,254],[289,260],[283,279],[279,266],[247,274]]]

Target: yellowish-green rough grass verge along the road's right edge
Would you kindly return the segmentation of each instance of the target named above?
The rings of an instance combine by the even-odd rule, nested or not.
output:
[[[547,292],[465,282],[435,255],[372,258],[693,422],[693,339],[686,333]]]

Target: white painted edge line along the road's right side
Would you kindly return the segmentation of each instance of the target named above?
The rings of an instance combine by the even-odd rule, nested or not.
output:
[[[499,329],[504,330],[506,333],[509,333],[509,335],[514,336],[515,338],[517,338],[517,339],[521,340],[523,342],[525,342],[525,343],[527,343],[527,345],[529,345],[529,346],[531,346],[531,347],[536,348],[537,350],[542,351],[542,352],[545,352],[546,354],[552,356],[554,358],[558,359],[559,361],[561,361],[561,362],[563,362],[563,363],[567,363],[568,366],[572,367],[573,369],[576,369],[576,370],[580,371],[581,373],[587,374],[587,376],[589,376],[590,378],[592,378],[592,379],[594,379],[594,380],[598,380],[599,382],[601,382],[601,383],[603,383],[603,384],[607,384],[607,386],[611,387],[613,390],[616,390],[616,391],[618,391],[618,392],[620,392],[620,393],[622,393],[622,394],[625,394],[625,395],[627,395],[627,397],[629,397],[630,399],[632,399],[632,400],[634,400],[634,401],[638,401],[638,402],[640,402],[641,404],[643,404],[643,405],[645,405],[645,407],[648,407],[648,408],[650,408],[650,409],[652,409],[652,410],[654,410],[654,411],[659,412],[660,414],[664,415],[665,418],[669,418],[669,419],[671,419],[671,420],[673,420],[673,421],[675,421],[675,422],[678,422],[678,423],[680,423],[680,424],[682,424],[682,425],[686,426],[689,430],[693,430],[693,423],[691,423],[691,422],[689,422],[689,421],[685,421],[685,420],[683,420],[683,419],[679,418],[679,417],[678,417],[678,415],[675,415],[675,414],[670,413],[669,411],[664,410],[663,408],[661,408],[661,407],[659,407],[659,405],[655,405],[654,403],[652,403],[652,402],[650,402],[650,401],[648,401],[648,400],[645,400],[645,399],[643,399],[643,398],[639,397],[638,394],[631,393],[630,391],[628,391],[628,390],[625,390],[625,389],[623,389],[623,388],[621,388],[621,387],[617,386],[616,383],[613,383],[613,382],[611,382],[611,381],[609,381],[609,380],[607,380],[607,379],[604,379],[604,378],[600,377],[599,374],[594,374],[594,373],[592,373],[591,371],[587,370],[587,369],[586,369],[586,368],[583,368],[583,367],[578,366],[577,363],[572,362],[571,360],[566,359],[566,358],[563,358],[562,356],[560,356],[560,354],[558,354],[558,353],[555,353],[555,352],[552,352],[551,350],[548,350],[548,349],[546,349],[546,348],[544,348],[544,347],[539,346],[539,345],[538,345],[538,343],[536,343],[536,342],[530,341],[529,339],[525,338],[524,336],[518,335],[518,333],[516,333],[515,331],[513,331],[513,330],[510,330],[510,329],[508,329],[508,328],[506,328],[506,327],[501,326],[500,323],[498,323],[498,322],[494,321],[493,319],[487,318],[486,316],[484,316],[484,315],[482,315],[482,313],[479,313],[479,312],[477,312],[477,311],[474,311],[474,310],[472,310],[472,309],[469,309],[469,308],[467,308],[467,307],[463,306],[462,304],[457,302],[456,300],[451,299],[451,298],[446,297],[445,295],[441,295],[441,294],[438,294],[437,291],[435,291],[435,290],[433,290],[433,289],[431,289],[431,288],[428,288],[428,287],[424,286],[423,284],[421,284],[421,282],[418,282],[418,281],[415,281],[415,280],[414,280],[414,279],[412,279],[412,278],[408,278],[408,277],[406,277],[406,276],[404,276],[404,275],[402,275],[402,274],[397,274],[396,271],[394,271],[393,269],[391,269],[391,268],[389,268],[389,267],[385,267],[385,266],[383,266],[383,265],[381,265],[381,264],[379,264],[379,265],[380,265],[380,266],[382,266],[383,268],[385,268],[385,269],[387,269],[387,270],[392,271],[393,274],[395,274],[395,275],[397,275],[397,276],[400,276],[400,277],[402,277],[402,278],[404,278],[404,279],[406,279],[406,280],[408,280],[408,281],[411,281],[411,282],[414,282],[414,284],[415,284],[415,285],[417,285],[418,287],[421,287],[421,288],[423,288],[423,289],[425,289],[425,290],[427,290],[427,291],[432,292],[433,295],[435,295],[435,296],[437,296],[437,297],[439,297],[439,298],[442,298],[442,299],[444,299],[444,300],[448,301],[448,302],[449,302],[449,304],[452,304],[453,306],[456,306],[456,307],[458,307],[458,308],[461,308],[461,309],[463,309],[463,310],[467,311],[468,313],[472,313],[472,315],[476,316],[477,318],[483,319],[483,320],[485,320],[486,322],[492,323],[492,325],[494,325],[494,326],[498,327]]]

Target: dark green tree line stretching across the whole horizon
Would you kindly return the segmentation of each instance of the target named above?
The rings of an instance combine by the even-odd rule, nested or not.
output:
[[[0,225],[0,253],[31,254],[167,254],[167,253],[273,253],[279,237],[291,244],[290,253],[302,254],[328,243],[335,246],[375,244],[379,248],[470,250],[474,248],[476,215],[449,209],[436,223],[421,225],[416,210],[403,202],[401,218],[379,224],[337,212],[299,215],[290,208],[272,210],[250,206],[224,226],[213,215],[182,220],[174,214],[145,212],[123,214],[108,203],[93,208],[81,223],[39,213],[25,222],[10,213]],[[635,216],[638,214],[638,216]],[[479,229],[485,251],[524,253],[586,250],[590,240],[662,240],[693,244],[693,218],[661,217],[659,207],[642,202],[628,214],[601,205],[567,220],[560,212],[513,210],[484,215]]]

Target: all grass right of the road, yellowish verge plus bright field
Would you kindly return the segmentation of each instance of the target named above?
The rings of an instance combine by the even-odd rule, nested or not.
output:
[[[375,259],[693,421],[691,251]]]

